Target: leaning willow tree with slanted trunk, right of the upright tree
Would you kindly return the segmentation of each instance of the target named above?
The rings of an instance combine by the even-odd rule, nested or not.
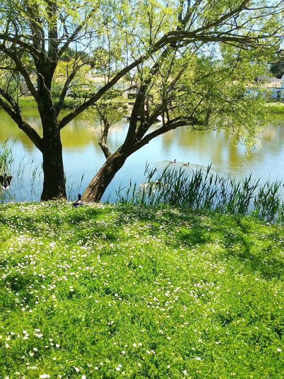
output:
[[[181,126],[192,130],[223,127],[252,143],[267,115],[263,99],[245,93],[253,79],[267,71],[264,62],[282,40],[282,5],[282,1],[178,1],[172,13],[176,29],[166,35],[171,42],[135,71],[139,90],[125,141],[111,152],[108,131],[102,132],[106,162],[83,199],[99,201],[131,154]],[[145,20],[145,28],[139,31],[137,46],[141,40],[149,46],[157,43],[160,16],[157,2],[143,2],[137,19],[139,25]],[[133,36],[135,31],[125,25],[125,35]],[[155,125],[159,116],[162,121]]]

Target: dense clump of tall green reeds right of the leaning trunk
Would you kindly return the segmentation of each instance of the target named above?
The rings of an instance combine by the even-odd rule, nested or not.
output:
[[[192,169],[168,165],[160,172],[146,165],[144,177],[140,186],[130,182],[124,194],[120,188],[118,202],[253,215],[266,222],[284,223],[282,181],[260,183],[251,175],[237,180],[212,172],[211,166]]]

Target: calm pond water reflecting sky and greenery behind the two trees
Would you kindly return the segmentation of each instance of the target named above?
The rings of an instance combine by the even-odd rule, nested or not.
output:
[[[24,116],[41,134],[37,110],[27,109]],[[127,126],[126,120],[122,119],[112,128],[109,135],[111,151],[123,142]],[[69,178],[69,189],[72,192],[78,190],[82,192],[105,161],[98,145],[99,128],[99,124],[92,125],[82,118],[77,118],[62,130],[64,166]],[[13,146],[15,156],[11,190],[13,183],[14,189],[17,187],[17,177],[21,176],[16,173],[17,167],[20,162],[22,166],[25,165],[16,200],[38,200],[42,179],[36,176],[32,193],[31,177],[35,166],[41,163],[41,154],[9,116],[0,110],[0,145],[2,146],[6,140],[8,146]],[[13,143],[13,140],[16,141]],[[236,145],[233,136],[225,131],[191,132],[186,127],[170,131],[128,158],[106,190],[104,199],[114,200],[119,185],[126,186],[130,179],[141,182],[146,162],[163,167],[167,161],[175,158],[180,163],[189,161],[191,164],[202,166],[212,163],[213,170],[224,174],[230,173],[232,176],[245,177],[252,173],[253,177],[261,178],[263,181],[269,177],[284,180],[284,117],[279,118],[277,124],[263,128],[263,132],[259,135],[259,146],[249,151],[241,144]],[[79,189],[82,174],[84,177]]]

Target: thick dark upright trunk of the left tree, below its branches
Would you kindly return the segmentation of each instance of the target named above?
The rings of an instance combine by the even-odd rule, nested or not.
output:
[[[45,137],[42,146],[43,189],[41,201],[66,200],[60,131],[57,127],[50,127],[48,136]]]

